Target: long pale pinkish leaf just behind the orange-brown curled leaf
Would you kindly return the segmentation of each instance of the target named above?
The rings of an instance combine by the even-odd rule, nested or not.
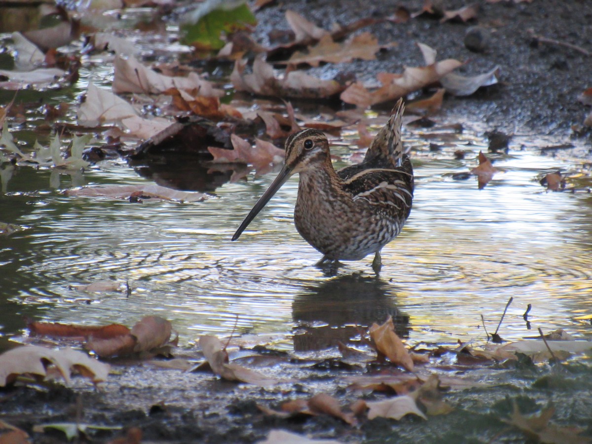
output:
[[[114,79],[111,88],[115,94],[121,92],[136,92],[144,94],[159,94],[169,88],[192,91],[197,89],[200,95],[206,97],[220,97],[224,91],[217,89],[214,83],[202,79],[196,72],[187,77],[170,77],[142,65],[134,57],[123,59],[115,57]]]

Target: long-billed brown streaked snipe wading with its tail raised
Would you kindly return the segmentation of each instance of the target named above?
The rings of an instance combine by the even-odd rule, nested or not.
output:
[[[399,99],[388,123],[372,141],[363,162],[335,171],[329,141],[318,130],[291,134],[284,168],[244,218],[232,240],[294,173],[300,173],[294,223],[298,233],[323,253],[317,265],[359,260],[374,253],[378,274],[380,250],[400,233],[413,201],[413,168],[403,153]]]

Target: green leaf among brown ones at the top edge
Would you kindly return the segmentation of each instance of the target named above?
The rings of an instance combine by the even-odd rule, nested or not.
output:
[[[221,49],[225,44],[221,39],[223,33],[230,34],[257,23],[255,15],[244,3],[225,11],[222,2],[205,15],[197,12],[195,17],[189,18],[189,22],[181,25],[181,34],[183,43],[200,49]]]

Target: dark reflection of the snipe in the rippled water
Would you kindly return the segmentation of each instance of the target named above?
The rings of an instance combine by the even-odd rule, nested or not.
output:
[[[342,343],[356,343],[356,337],[372,323],[392,316],[399,336],[408,336],[409,316],[395,305],[392,287],[376,277],[343,275],[311,287],[292,304],[297,327],[294,350],[321,350]]]

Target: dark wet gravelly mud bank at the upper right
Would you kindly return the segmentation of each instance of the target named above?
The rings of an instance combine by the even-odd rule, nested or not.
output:
[[[435,2],[436,3],[436,2]],[[446,10],[464,6],[464,2],[440,2]],[[362,81],[376,82],[378,72],[402,72],[404,66],[423,65],[416,43],[425,43],[438,52],[439,59],[454,58],[466,62],[459,72],[475,75],[500,67],[500,84],[482,88],[468,97],[446,96],[440,114],[481,121],[507,133],[571,134],[581,126],[589,107],[577,102],[577,96],[590,88],[592,57],[560,44],[542,43],[536,36],[574,45],[592,52],[592,3],[534,0],[532,3],[498,2],[480,5],[477,20],[446,21],[423,14],[404,23],[381,22],[365,30],[380,43],[397,42],[378,60],[326,65],[313,72],[333,76],[336,70],[355,73]],[[264,8],[258,12],[258,36],[287,28],[284,14],[292,9],[317,25],[330,28],[333,22],[348,24],[361,17],[386,17],[404,5],[408,11],[421,11],[423,1],[404,4],[389,1],[368,2],[301,1]],[[466,31],[478,25],[486,37],[485,49],[474,52],[465,47]],[[584,137],[590,138],[588,131]]]

